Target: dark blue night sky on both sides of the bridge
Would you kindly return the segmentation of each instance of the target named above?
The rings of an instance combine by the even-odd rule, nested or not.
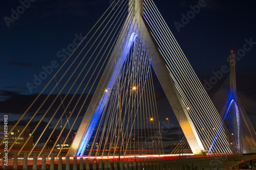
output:
[[[28,83],[33,84],[34,75],[39,75],[42,66],[53,60],[61,65],[63,61],[57,57],[61,48],[73,43],[77,36],[85,36],[110,2],[31,0],[19,16],[12,15],[13,11],[22,10],[19,1],[0,2],[0,113],[15,115],[13,119],[23,113],[20,107],[29,106],[28,101],[45,87],[57,68],[39,86],[29,90]],[[236,64],[237,91],[256,129],[256,2],[206,0],[205,6],[185,22],[183,16],[191,13],[191,7],[200,1],[154,2],[203,85],[214,76],[212,71],[229,66],[231,50],[241,52],[243,57]],[[182,27],[177,29],[177,24]],[[244,45],[248,42],[249,45]],[[244,46],[246,52],[242,54]],[[223,74],[216,85],[207,89],[210,96],[227,76],[228,73]],[[163,108],[160,113],[168,111]]]

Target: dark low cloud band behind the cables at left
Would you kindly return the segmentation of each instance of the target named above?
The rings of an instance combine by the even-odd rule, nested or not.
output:
[[[28,107],[32,104],[32,102],[35,100],[38,94],[31,94],[31,95],[24,95],[20,94],[16,91],[8,91],[8,90],[0,90],[0,113],[10,113],[10,114],[16,114],[16,115],[22,115]],[[61,96],[64,96],[65,94],[61,94]],[[69,94],[65,101],[63,101],[64,106],[68,106],[70,100],[72,99],[73,94]],[[69,108],[67,108],[67,111],[71,111],[73,107],[75,106],[76,102],[79,99],[80,94],[76,94],[74,96],[74,99],[70,103]],[[83,101],[86,98],[87,94],[83,94],[80,101]],[[90,99],[92,95],[89,96],[86,104],[83,106],[81,114],[84,113],[89,105]],[[39,98],[34,102],[34,104],[31,106],[31,108],[28,110],[26,116],[32,116],[35,111],[40,107],[40,105],[44,102],[44,100],[47,98],[47,94],[41,94]],[[51,94],[48,98],[48,100],[45,102],[44,105],[41,106],[40,110],[37,113],[37,116],[43,115],[46,110],[50,107],[52,102],[55,100],[56,94]],[[1,100],[2,99],[2,100]],[[81,103],[78,103],[74,113],[78,113],[78,111],[81,108]],[[48,111],[46,117],[51,117],[52,114],[57,110],[59,104],[62,105],[62,102],[60,100],[60,97],[56,99],[50,110]],[[62,112],[64,111],[63,107],[61,106],[58,109],[58,112],[55,116],[55,118],[60,117]],[[72,114],[72,117],[75,117],[75,114]]]

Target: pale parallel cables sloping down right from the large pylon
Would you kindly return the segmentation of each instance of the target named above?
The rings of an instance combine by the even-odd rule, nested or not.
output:
[[[184,105],[191,108],[188,113],[204,149],[215,153],[232,153],[232,146],[218,111],[152,0],[144,1],[144,19],[157,42]]]

